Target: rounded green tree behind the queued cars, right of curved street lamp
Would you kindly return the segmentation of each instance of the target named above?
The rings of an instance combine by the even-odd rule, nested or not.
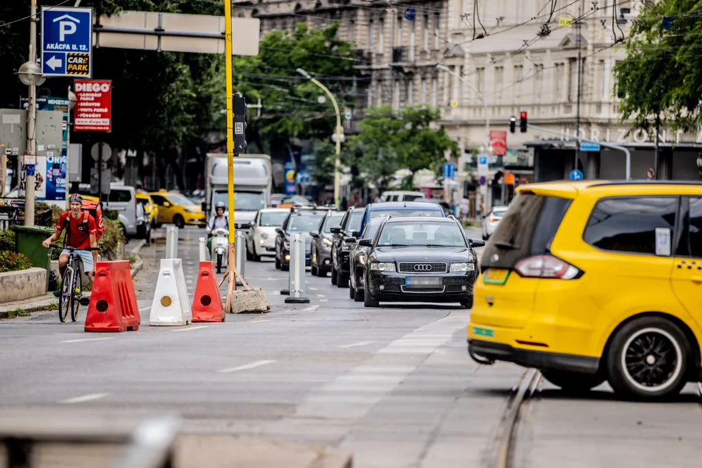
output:
[[[399,112],[390,106],[366,109],[361,133],[345,145],[345,162],[362,168],[362,177],[381,192],[399,169],[407,169],[411,174],[401,188],[413,189],[414,173],[422,169],[437,172],[446,161],[444,152],[458,151],[444,128],[435,126],[440,116],[437,109],[426,106],[405,107]]]

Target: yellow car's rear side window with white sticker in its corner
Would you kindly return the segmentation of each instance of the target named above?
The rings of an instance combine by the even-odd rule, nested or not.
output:
[[[671,255],[656,241],[662,232],[675,239],[677,196],[618,196],[595,205],[585,225],[583,240],[611,252]]]

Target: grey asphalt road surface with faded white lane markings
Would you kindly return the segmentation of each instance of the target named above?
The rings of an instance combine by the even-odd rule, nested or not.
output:
[[[180,233],[192,295],[200,229]],[[479,236],[479,231],[470,232]],[[55,312],[0,321],[0,413],[175,412],[184,431],[256,434],[348,448],[355,467],[480,467],[522,370],[478,366],[458,305],[365,309],[329,278],[307,274],[308,305],[286,305],[287,274],[247,262],[267,314],[225,323],[148,326],[164,244],[145,246],[135,280],[143,326],[84,333]],[[532,467],[702,466],[693,388],[671,403],[627,403],[607,385],[581,399],[546,383],[520,450]]]

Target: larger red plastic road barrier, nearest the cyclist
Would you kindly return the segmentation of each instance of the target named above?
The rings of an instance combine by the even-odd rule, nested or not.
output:
[[[85,330],[138,330],[140,323],[129,260],[98,262]]]

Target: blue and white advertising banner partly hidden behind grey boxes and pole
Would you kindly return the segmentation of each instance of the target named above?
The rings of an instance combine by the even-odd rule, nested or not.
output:
[[[22,98],[22,109],[27,109],[28,101]],[[63,112],[63,138],[60,152],[58,148],[37,147],[37,167],[34,172],[34,196],[37,200],[65,201],[66,170],[68,148],[68,99],[37,97],[37,110]],[[46,155],[41,155],[45,152]],[[25,191],[25,171],[20,173],[20,194]]]

